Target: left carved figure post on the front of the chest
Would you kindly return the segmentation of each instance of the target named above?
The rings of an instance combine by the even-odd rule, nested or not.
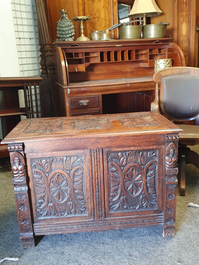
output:
[[[22,144],[9,145],[8,150],[10,152],[14,196],[22,247],[34,247],[32,220],[28,199],[28,186],[26,182],[26,165]]]

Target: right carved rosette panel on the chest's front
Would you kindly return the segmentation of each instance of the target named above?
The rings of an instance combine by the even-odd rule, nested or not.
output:
[[[157,150],[108,152],[109,212],[157,209]]]

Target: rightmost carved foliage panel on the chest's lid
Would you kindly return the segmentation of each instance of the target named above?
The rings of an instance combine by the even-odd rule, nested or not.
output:
[[[127,114],[118,117],[123,127],[156,126],[160,123],[149,114]]]

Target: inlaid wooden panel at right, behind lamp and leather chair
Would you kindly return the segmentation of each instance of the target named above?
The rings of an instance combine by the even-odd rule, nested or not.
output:
[[[186,65],[198,67],[199,0],[156,0],[156,3],[163,14],[152,17],[151,24],[169,22],[166,34],[182,49]]]

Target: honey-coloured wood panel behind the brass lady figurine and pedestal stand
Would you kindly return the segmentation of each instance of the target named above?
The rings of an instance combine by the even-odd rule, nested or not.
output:
[[[74,16],[91,16],[91,21],[84,24],[85,36],[89,37],[91,26],[95,30],[103,30],[118,23],[117,0],[44,0],[48,12],[48,22],[50,27],[51,40],[57,39],[57,21],[59,21],[61,9],[67,11],[68,18]],[[75,39],[80,36],[80,23],[74,22]],[[114,38],[118,38],[118,30],[114,30]]]

